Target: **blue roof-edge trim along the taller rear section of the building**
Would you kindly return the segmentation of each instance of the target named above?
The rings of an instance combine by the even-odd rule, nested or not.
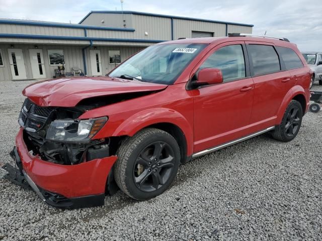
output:
[[[91,11],[79,22],[79,24],[83,23],[84,20],[87,19],[91,14],[122,14],[122,11]],[[252,24],[231,23],[231,22],[216,21],[216,20],[209,20],[209,19],[196,19],[196,18],[188,18],[188,17],[180,17],[180,16],[142,13],[142,12],[135,12],[135,11],[123,11],[123,14],[134,14],[134,15],[143,15],[143,16],[150,16],[150,17],[173,18],[173,19],[193,20],[193,21],[216,23],[216,24],[231,24],[231,25],[254,27],[254,25]]]

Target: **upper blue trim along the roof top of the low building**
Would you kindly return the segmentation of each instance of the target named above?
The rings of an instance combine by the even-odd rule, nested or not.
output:
[[[30,25],[30,26],[59,27],[59,28],[71,28],[71,29],[95,29],[95,30],[110,30],[110,31],[125,31],[125,32],[135,31],[135,29],[125,29],[125,28],[112,28],[112,27],[88,26],[88,25],[77,25],[77,24],[30,22],[30,21],[22,21],[22,20],[0,20],[0,24],[18,24],[18,25]]]

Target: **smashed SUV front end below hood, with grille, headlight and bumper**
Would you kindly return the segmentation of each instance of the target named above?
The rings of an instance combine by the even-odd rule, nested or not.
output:
[[[103,205],[104,194],[117,190],[113,178],[116,156],[115,148],[111,155],[110,138],[92,140],[108,117],[79,119],[95,107],[39,106],[26,98],[19,115],[22,128],[17,147],[10,153],[18,169],[5,164],[5,178],[33,189],[56,207]]]

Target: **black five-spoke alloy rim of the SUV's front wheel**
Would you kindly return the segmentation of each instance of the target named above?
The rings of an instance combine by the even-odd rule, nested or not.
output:
[[[138,189],[144,192],[162,187],[172,176],[174,151],[165,142],[154,142],[145,147],[136,158],[133,178]]]

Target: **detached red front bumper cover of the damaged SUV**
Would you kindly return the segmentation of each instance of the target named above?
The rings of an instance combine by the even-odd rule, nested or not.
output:
[[[29,154],[22,128],[16,137],[16,146],[29,177],[41,188],[68,198],[104,193],[108,173],[117,159],[111,156],[74,166],[42,161]]]

